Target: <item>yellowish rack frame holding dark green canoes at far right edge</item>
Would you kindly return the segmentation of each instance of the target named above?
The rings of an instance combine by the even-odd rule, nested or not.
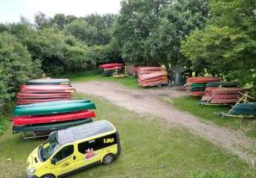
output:
[[[231,110],[229,110],[228,113],[214,113],[215,115],[217,116],[221,116],[222,119],[224,119],[225,117],[232,117],[232,118],[241,118],[241,119],[253,119],[253,118],[256,118],[256,116],[250,116],[250,115],[233,115],[231,114],[232,111],[234,110],[234,108],[241,102],[247,102],[247,103],[251,103],[248,101],[248,99],[255,99],[254,97],[252,96],[249,96],[248,95],[248,92],[246,91],[246,93],[241,93],[241,92],[238,92],[242,95],[242,97],[238,97],[238,102],[231,108]]]

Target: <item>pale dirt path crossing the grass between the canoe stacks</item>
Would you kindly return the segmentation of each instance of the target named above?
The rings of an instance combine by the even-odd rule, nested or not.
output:
[[[182,91],[165,88],[149,90],[132,90],[116,83],[85,82],[73,84],[78,92],[100,96],[137,113],[156,115],[170,125],[187,128],[194,134],[220,145],[232,154],[240,156],[246,162],[252,163],[256,156],[249,154],[248,150],[255,151],[256,140],[243,136],[240,131],[221,128],[210,122],[200,122],[191,114],[177,111],[177,109],[160,102],[157,96],[183,96]]]

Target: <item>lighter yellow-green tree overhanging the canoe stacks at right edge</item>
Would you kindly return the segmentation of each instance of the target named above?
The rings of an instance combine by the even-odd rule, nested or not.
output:
[[[211,0],[211,19],[183,42],[182,51],[197,70],[252,83],[256,71],[256,3]]]

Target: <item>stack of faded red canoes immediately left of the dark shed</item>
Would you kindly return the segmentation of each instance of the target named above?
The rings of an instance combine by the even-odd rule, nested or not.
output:
[[[142,87],[151,87],[168,83],[168,73],[163,67],[139,67],[138,82]]]

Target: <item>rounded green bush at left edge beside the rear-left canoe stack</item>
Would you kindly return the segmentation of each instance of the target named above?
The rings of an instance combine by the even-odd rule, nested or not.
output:
[[[0,107],[3,108],[27,79],[41,75],[40,62],[33,61],[15,36],[0,33]]]

